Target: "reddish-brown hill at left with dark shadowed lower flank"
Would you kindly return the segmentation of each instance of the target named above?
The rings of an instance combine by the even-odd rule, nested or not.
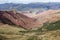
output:
[[[13,11],[0,11],[0,20],[3,23],[14,24],[26,29],[31,29],[36,24],[34,19],[20,13],[14,13]]]

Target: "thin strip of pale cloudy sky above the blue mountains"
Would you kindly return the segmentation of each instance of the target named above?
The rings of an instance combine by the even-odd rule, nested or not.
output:
[[[60,0],[0,0],[1,3],[60,2]]]

